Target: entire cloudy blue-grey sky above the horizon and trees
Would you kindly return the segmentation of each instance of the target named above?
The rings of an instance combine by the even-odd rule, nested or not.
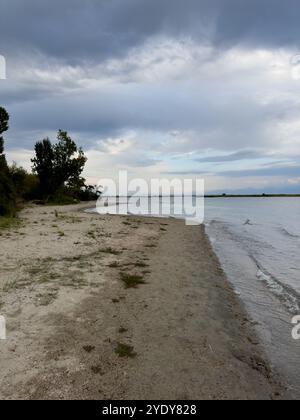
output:
[[[299,23],[299,0],[1,0],[7,159],[63,129],[90,183],[300,193]]]

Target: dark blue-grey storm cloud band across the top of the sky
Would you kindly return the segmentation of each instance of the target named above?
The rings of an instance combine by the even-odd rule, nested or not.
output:
[[[120,56],[156,35],[215,46],[298,46],[299,0],[1,0],[2,53],[69,62]]]

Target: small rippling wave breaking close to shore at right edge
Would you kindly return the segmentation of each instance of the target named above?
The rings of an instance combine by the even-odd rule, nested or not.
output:
[[[290,286],[283,284],[280,280],[272,276],[272,274],[259,264],[255,257],[251,256],[251,259],[257,266],[257,278],[268,286],[271,292],[283,302],[291,314],[299,314],[300,296],[298,293]]]

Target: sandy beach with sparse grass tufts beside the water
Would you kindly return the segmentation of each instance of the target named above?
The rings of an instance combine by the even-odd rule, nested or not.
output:
[[[203,227],[82,208],[1,233],[1,399],[282,397]]]

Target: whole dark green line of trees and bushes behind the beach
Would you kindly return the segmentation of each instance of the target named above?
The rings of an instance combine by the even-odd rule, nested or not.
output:
[[[0,216],[15,215],[25,201],[71,204],[98,198],[82,177],[87,158],[66,131],[58,131],[55,143],[46,138],[35,144],[29,173],[7,163],[3,134],[8,129],[9,114],[0,107]]]

